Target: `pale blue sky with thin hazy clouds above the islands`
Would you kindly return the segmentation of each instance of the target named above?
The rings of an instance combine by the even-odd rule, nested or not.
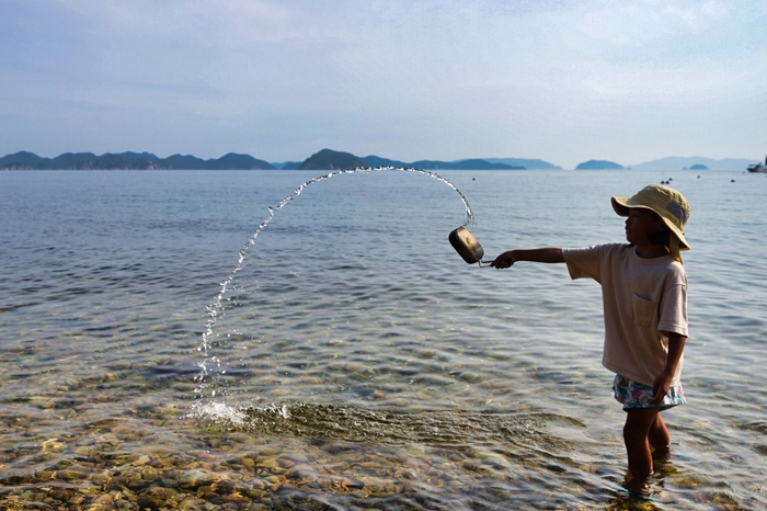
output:
[[[767,152],[764,0],[0,0],[0,156]]]

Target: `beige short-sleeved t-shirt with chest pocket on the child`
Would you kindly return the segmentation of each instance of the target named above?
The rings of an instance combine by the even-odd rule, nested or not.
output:
[[[602,284],[608,370],[652,385],[668,354],[667,332],[687,337],[687,273],[671,256],[642,259],[630,245],[563,249],[572,279]],[[679,361],[672,385],[679,383]]]

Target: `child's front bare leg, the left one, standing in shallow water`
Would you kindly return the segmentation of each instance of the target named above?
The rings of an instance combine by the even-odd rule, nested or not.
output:
[[[638,481],[645,480],[653,470],[649,436],[651,430],[653,431],[653,436],[662,436],[659,430],[663,421],[661,420],[660,424],[656,423],[656,420],[660,418],[660,407],[653,407],[631,408],[626,412],[623,442],[626,443],[626,453],[629,457],[629,470],[631,476],[637,478]],[[663,424],[663,429],[665,430],[665,424]],[[668,432],[666,431],[667,434]],[[653,438],[653,444],[655,440],[662,441],[661,438]]]

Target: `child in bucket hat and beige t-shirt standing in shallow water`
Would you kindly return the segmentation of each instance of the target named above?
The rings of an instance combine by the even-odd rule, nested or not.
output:
[[[660,411],[686,402],[679,376],[687,340],[687,274],[679,251],[689,250],[683,229],[690,209],[680,193],[655,184],[611,203],[627,217],[629,245],[510,250],[491,265],[564,262],[572,279],[591,277],[602,285],[602,362],[616,373],[615,397],[627,412],[630,486],[641,489],[653,472],[653,451],[668,455],[671,440]]]

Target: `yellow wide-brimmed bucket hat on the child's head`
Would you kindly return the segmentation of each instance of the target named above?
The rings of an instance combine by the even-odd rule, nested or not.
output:
[[[655,212],[674,234],[671,241],[672,247],[668,249],[678,261],[682,261],[679,250],[690,249],[683,234],[685,224],[690,216],[690,207],[685,197],[676,190],[660,184],[648,184],[631,198],[613,197],[610,202],[613,209],[620,216],[629,216],[630,207],[643,207]],[[676,240],[673,239],[674,237]]]

